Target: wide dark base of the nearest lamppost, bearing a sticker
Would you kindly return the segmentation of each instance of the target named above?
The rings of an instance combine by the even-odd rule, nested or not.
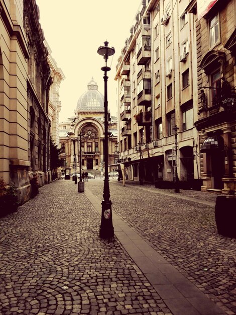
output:
[[[114,237],[111,204],[110,200],[102,200],[101,202],[101,225],[99,229],[99,237],[101,239],[111,239]]]

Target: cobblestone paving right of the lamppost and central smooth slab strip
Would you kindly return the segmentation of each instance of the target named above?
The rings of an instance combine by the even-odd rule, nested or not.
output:
[[[236,239],[217,232],[217,196],[184,190],[176,194],[134,182],[124,187],[117,180],[110,180],[109,187],[112,211],[228,315],[235,315]],[[101,198],[98,181],[90,181],[87,188]],[[212,202],[212,206],[177,197]]]

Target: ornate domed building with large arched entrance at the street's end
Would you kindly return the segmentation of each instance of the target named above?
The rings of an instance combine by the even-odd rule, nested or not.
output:
[[[104,168],[104,96],[91,79],[87,91],[76,106],[75,116],[60,123],[60,148],[63,168],[70,168],[71,174],[81,169],[93,175],[100,175]],[[108,165],[115,164],[117,155],[117,118],[108,110]],[[111,167],[110,170],[113,170]]]

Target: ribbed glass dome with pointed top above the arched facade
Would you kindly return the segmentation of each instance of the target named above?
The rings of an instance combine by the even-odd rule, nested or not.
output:
[[[104,96],[98,92],[97,83],[92,80],[87,85],[88,91],[82,94],[77,102],[76,110],[104,112]]]

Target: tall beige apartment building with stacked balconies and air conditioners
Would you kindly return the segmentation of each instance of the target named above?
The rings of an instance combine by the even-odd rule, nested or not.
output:
[[[116,66],[120,160],[126,177],[141,183],[200,182],[196,33],[187,5],[143,1]]]

